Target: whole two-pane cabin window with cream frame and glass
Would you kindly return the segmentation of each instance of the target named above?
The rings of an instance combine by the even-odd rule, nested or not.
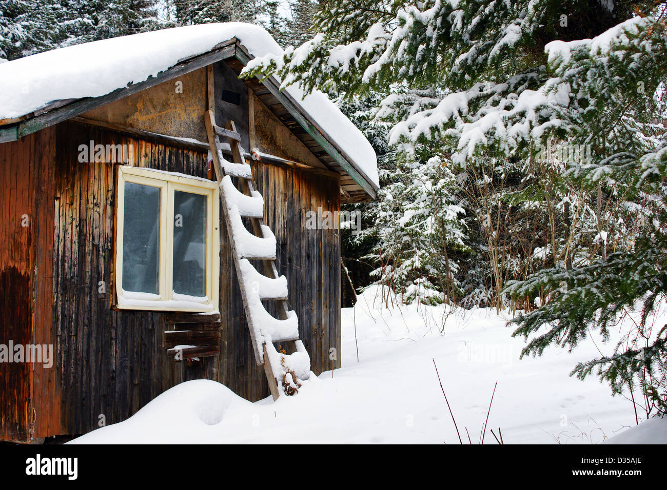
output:
[[[176,173],[119,167],[117,306],[217,309],[217,183]]]

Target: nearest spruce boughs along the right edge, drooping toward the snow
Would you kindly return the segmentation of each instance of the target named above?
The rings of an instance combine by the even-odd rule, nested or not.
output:
[[[541,288],[554,296],[514,320],[515,335],[530,337],[524,353],[542,353],[552,343],[572,348],[589,325],[608,338],[619,316],[640,308],[640,320],[611,355],[580,363],[573,373],[583,379],[595,372],[615,393],[639,385],[647,413],[667,409],[667,325],[653,323],[667,293],[664,13],[658,5],[592,40],[547,45],[553,76],[546,93],[568,95],[545,105],[556,111],[554,133],[594,142],[593,161],[570,165],[568,173],[626,208],[624,217],[635,222],[619,217],[600,229],[604,247],[588,263],[556,264],[508,287],[513,295]]]

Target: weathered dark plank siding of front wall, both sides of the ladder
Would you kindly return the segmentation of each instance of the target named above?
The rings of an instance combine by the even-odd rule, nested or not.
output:
[[[111,309],[117,164],[79,163],[78,146],[91,140],[133,145],[133,165],[206,175],[203,152],[77,123],[57,126],[51,206],[55,203],[53,323],[61,432],[94,429],[99,415],[105,415],[107,424],[126,419],[189,379],[215,379],[253,401],[269,395],[263,368],[253,357],[223,225],[220,355],[175,363],[163,347],[163,313]],[[338,180],[257,163],[255,181],[266,203],[265,221],[275,231],[277,265],[289,280],[301,338],[319,373],[330,367],[330,347],[340,353],[340,241],[336,229],[305,229],[305,212],[317,207],[338,211]],[[105,283],[104,295],[98,292],[100,281]]]

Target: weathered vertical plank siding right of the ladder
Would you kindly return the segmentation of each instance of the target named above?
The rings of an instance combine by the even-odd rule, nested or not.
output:
[[[307,211],[336,213],[338,220],[338,179],[275,165],[255,168],[257,189],[267,202],[265,223],[277,241],[278,271],[287,277],[289,303],[313,371],[333,367],[332,347],[340,367],[340,231],[306,227]]]

